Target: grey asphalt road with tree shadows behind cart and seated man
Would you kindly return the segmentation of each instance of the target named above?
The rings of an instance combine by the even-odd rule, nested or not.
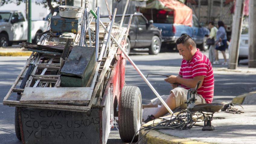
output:
[[[206,55],[208,55],[208,53],[206,53]],[[148,55],[148,53],[132,53],[130,57],[145,76],[149,73],[177,75],[181,64],[181,56],[179,56],[178,53],[169,52],[168,50],[162,50],[161,53],[156,56]],[[3,106],[2,100],[14,83],[27,58],[28,57],[0,57],[0,143],[21,143],[15,136],[14,107]],[[223,61],[221,56],[220,59]],[[246,61],[244,62],[244,65],[239,65],[239,68],[248,67]],[[214,65],[214,67],[223,66]],[[214,75],[215,91],[213,102],[231,102],[232,98],[235,96],[256,90],[255,73],[216,71]],[[164,78],[164,76],[158,75],[148,76],[149,82],[151,82],[160,95],[169,94],[171,90],[171,85],[166,83]],[[138,86],[140,88],[142,104],[147,104],[150,99],[156,97],[129,62],[127,62],[126,66],[126,85]],[[15,94],[11,96],[11,99],[15,98]],[[107,143],[124,144],[116,128],[111,129]]]

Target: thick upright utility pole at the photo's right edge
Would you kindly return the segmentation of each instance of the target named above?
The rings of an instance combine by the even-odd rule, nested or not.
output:
[[[256,22],[256,2],[251,0],[249,2],[249,68],[256,68],[256,30],[255,30],[255,22]]]

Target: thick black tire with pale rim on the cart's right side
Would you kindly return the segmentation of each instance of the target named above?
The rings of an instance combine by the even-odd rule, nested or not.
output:
[[[119,135],[123,142],[131,142],[135,133],[141,127],[142,120],[141,92],[136,86],[124,86],[118,105]],[[134,142],[138,141],[136,133]]]

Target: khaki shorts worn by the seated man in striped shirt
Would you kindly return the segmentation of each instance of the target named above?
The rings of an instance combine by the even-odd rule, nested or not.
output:
[[[187,101],[187,93],[188,90],[185,88],[174,88],[173,90],[171,90],[170,94],[173,93],[174,94],[174,99],[176,102],[176,107],[180,107],[182,109],[186,109],[187,108],[187,104],[185,104],[185,102]],[[170,95],[162,95],[161,98],[165,101]],[[197,94],[195,95],[196,97],[196,101],[195,104],[205,104],[205,100],[202,97],[202,95]],[[162,102],[159,100],[159,98],[154,98],[152,100],[150,100],[151,103],[153,105],[162,105]]]

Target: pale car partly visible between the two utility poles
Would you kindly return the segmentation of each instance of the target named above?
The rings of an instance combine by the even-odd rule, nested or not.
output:
[[[242,30],[240,37],[240,45],[239,45],[239,54],[238,54],[238,62],[241,59],[248,59],[249,54],[249,34],[248,28]]]

